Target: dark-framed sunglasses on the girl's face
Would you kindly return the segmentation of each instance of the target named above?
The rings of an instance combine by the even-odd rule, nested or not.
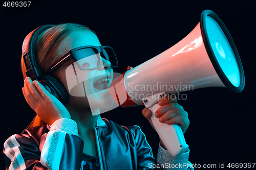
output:
[[[100,66],[101,57],[110,61],[111,67],[118,67],[117,57],[112,47],[110,46],[80,46],[73,48],[68,53],[60,57],[47,70],[47,74],[60,67],[62,64],[71,59],[75,59],[81,70],[95,69]]]

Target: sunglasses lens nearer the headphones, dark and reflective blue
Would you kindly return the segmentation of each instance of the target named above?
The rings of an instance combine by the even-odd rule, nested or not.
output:
[[[81,68],[92,69],[98,66],[99,54],[95,48],[82,48],[76,51],[76,60]]]

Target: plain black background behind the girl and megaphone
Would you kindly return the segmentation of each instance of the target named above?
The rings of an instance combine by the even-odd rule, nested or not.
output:
[[[179,104],[188,112],[185,133],[193,164],[256,161],[255,139],[255,13],[252,1],[32,1],[30,8],[0,7],[1,15],[1,140],[19,133],[31,122],[32,109],[20,85],[22,43],[45,24],[83,23],[96,31],[102,45],[114,48],[119,68],[137,66],[167,50],[195,28],[205,9],[225,23],[238,48],[245,72],[242,93],[226,88],[186,92]],[[141,114],[143,106],[116,108],[101,114],[120,125],[139,125],[157,155],[158,135]],[[0,147],[1,148],[1,147]],[[255,167],[256,168],[256,165]]]

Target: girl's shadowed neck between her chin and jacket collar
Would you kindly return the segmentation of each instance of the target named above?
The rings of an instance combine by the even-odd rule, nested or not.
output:
[[[71,118],[75,120],[78,127],[78,134],[80,137],[87,137],[94,134],[94,127],[96,127],[96,123],[99,117],[99,109],[83,108],[77,109],[77,107],[70,107],[69,105],[65,105],[68,109]]]

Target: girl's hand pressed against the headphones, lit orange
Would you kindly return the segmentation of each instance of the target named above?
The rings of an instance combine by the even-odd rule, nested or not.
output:
[[[45,123],[52,125],[57,119],[71,118],[66,107],[38,81],[27,77],[22,91],[29,106]]]

